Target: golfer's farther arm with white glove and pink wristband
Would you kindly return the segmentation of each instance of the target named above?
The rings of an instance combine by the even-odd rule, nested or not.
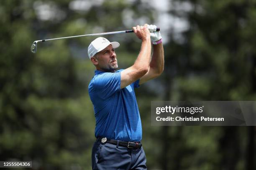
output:
[[[155,38],[161,37],[160,32],[155,33],[155,35],[153,36],[155,36]],[[152,35],[151,35],[151,38],[152,38]],[[151,58],[150,65],[148,67],[148,72],[145,75],[143,75],[143,77],[141,77],[139,84],[141,85],[144,82],[147,82],[148,80],[158,77],[159,75],[161,75],[163,70],[164,70],[164,47],[163,47],[163,43],[160,42],[159,44],[156,44],[156,45],[153,44],[153,55]]]

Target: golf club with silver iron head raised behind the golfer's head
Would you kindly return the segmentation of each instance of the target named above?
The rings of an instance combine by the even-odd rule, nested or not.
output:
[[[160,28],[156,28],[156,31],[160,31]],[[45,42],[45,41],[49,41],[49,40],[60,40],[60,39],[66,39],[66,38],[75,38],[75,37],[94,36],[94,35],[120,34],[120,33],[129,33],[129,32],[133,32],[133,30],[114,31],[114,32],[102,32],[102,33],[96,33],[96,34],[76,35],[76,36],[71,36],[71,37],[52,38],[52,39],[47,39],[47,40],[36,40],[31,45],[31,52],[36,53],[37,43],[38,42]]]

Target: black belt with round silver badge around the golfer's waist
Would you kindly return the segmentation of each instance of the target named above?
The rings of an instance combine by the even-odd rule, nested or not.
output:
[[[101,141],[101,143],[111,143],[113,145],[118,144],[119,146],[133,148],[133,149],[141,148],[142,146],[141,142],[125,142],[125,141],[113,140],[113,139],[108,140],[107,138],[98,138],[97,140]]]

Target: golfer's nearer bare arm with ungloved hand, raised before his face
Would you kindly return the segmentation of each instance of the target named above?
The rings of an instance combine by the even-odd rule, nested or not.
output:
[[[133,31],[142,40],[141,51],[134,64],[121,72],[121,89],[145,75],[150,63],[151,41],[147,25],[145,24],[143,27],[137,25],[137,27],[133,27]]]

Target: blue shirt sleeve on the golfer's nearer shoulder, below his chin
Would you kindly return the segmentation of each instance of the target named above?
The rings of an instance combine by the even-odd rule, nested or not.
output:
[[[105,72],[95,77],[94,87],[100,97],[106,99],[120,90],[121,72]]]

